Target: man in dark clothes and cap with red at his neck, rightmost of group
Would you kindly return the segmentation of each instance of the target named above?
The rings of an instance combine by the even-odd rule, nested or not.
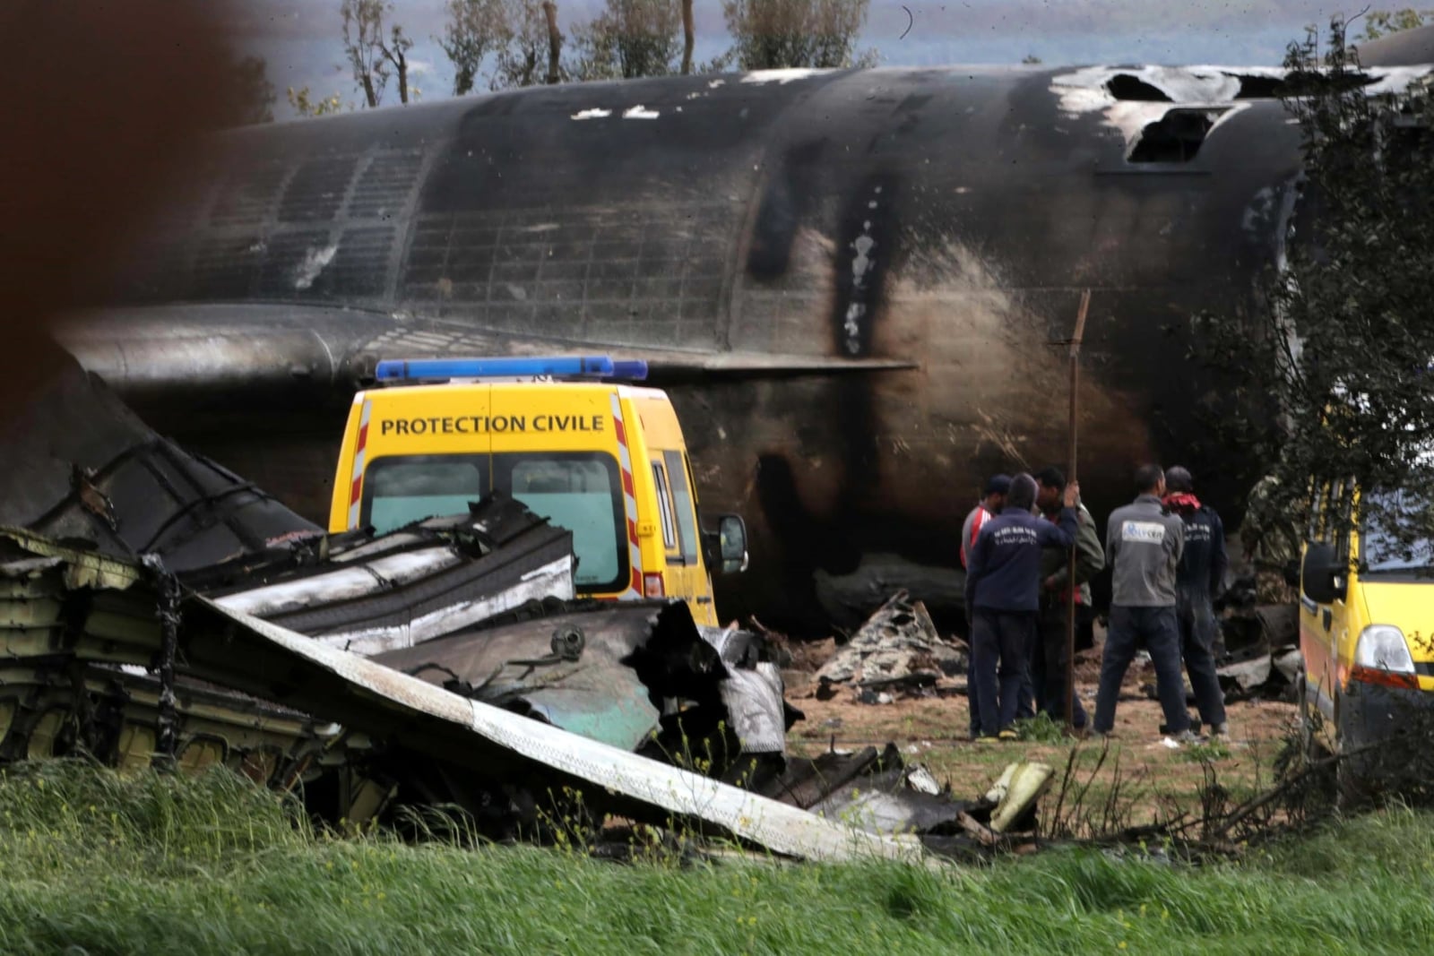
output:
[[[1215,672],[1215,599],[1225,582],[1225,525],[1215,509],[1195,496],[1195,479],[1182,467],[1166,472],[1164,506],[1184,522],[1184,553],[1174,579],[1174,613],[1180,625],[1180,655],[1200,721],[1216,737],[1228,732],[1225,694]]]

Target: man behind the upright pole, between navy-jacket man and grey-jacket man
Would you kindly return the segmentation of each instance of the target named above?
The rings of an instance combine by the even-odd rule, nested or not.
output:
[[[1065,493],[1065,474],[1057,467],[1048,467],[1035,476],[1035,506],[1041,515],[1054,522],[1060,516],[1061,496]],[[1091,578],[1106,566],[1106,553],[1100,548],[1100,532],[1096,519],[1086,506],[1077,509],[1078,529],[1076,532],[1076,613],[1090,611]],[[1038,641],[1031,658],[1031,682],[1035,687],[1035,707],[1051,715],[1051,720],[1065,720],[1065,609],[1070,598],[1070,549],[1047,548],[1041,552],[1041,611],[1037,616]],[[1071,722],[1080,730],[1086,727],[1086,708],[1080,698],[1071,701]]]

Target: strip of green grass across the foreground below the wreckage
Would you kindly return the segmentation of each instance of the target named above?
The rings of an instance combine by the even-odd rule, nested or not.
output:
[[[334,838],[227,773],[50,763],[0,777],[0,807],[14,955],[1369,953],[1434,935],[1434,816],[1410,811],[1242,864],[1050,850],[928,870]]]

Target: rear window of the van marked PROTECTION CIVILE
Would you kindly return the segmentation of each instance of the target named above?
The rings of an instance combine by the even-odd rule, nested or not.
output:
[[[366,472],[361,520],[381,535],[426,517],[463,515],[470,502],[492,489],[572,532],[578,558],[574,583],[579,592],[617,591],[627,583],[627,516],[611,454],[386,456]]]

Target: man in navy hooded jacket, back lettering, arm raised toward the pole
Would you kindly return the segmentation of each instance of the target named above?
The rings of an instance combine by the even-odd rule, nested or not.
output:
[[[1035,479],[1017,474],[1005,507],[987,522],[967,556],[967,615],[977,682],[981,737],[1015,738],[1017,704],[1028,681],[1030,651],[1040,609],[1041,549],[1070,548],[1076,539],[1080,486],[1065,486],[1060,520],[1031,515]],[[997,674],[999,665],[999,691]]]

